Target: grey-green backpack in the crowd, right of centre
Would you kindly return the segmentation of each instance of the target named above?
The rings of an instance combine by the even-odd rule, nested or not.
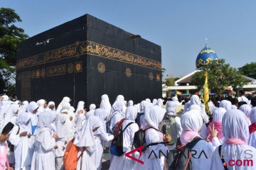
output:
[[[159,130],[161,130],[164,134],[171,135],[171,141],[167,143],[167,145],[174,145],[177,140],[177,123],[176,123],[176,115],[167,115],[166,119],[161,122],[159,125]]]

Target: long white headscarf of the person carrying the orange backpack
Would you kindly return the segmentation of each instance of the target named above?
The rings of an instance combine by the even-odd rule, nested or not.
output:
[[[83,125],[82,128],[77,132],[77,135],[74,140],[74,145],[78,147],[95,146],[95,137],[94,137],[95,133],[92,132],[92,129],[102,127],[102,125],[103,123],[100,120],[100,118],[94,115],[90,116],[90,118],[87,119],[85,125]],[[105,133],[105,132],[102,131],[102,133]]]

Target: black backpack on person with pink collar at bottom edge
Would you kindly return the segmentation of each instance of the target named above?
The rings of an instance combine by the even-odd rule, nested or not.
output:
[[[200,141],[203,140],[201,137],[195,137],[187,145],[181,144],[180,138],[177,141],[177,147],[174,152],[169,152],[168,159],[166,160],[166,166],[169,170],[192,170],[191,152],[190,150]]]

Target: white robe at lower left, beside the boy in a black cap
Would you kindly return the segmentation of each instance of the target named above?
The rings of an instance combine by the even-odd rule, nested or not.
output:
[[[11,135],[9,141],[14,145],[14,155],[15,155],[15,170],[19,169],[30,169],[31,160],[33,157],[33,142],[31,138],[20,137],[16,135],[18,132],[18,126],[16,125],[13,130],[11,130]]]

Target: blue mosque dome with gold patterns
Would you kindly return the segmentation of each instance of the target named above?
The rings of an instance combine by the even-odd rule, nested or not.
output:
[[[199,52],[198,57],[196,58],[196,68],[205,67],[211,60],[218,60],[218,57],[214,50],[210,49],[206,44],[201,52]]]

